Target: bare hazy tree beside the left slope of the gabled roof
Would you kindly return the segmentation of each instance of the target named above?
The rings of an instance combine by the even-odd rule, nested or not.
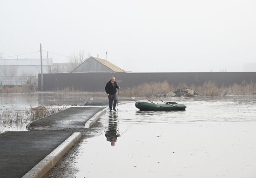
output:
[[[88,59],[91,56],[91,53],[85,53],[84,50],[79,50],[78,52],[73,52],[70,54],[68,58],[68,66],[67,69],[69,72],[73,71],[77,66],[79,66],[82,62]]]

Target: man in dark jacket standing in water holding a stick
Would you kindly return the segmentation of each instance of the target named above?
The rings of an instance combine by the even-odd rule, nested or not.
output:
[[[108,94],[108,101],[109,101],[109,111],[112,111],[112,105],[113,105],[113,110],[115,110],[117,98],[116,98],[116,89],[120,88],[115,82],[115,77],[111,77],[111,79],[108,81],[107,85],[105,86],[105,91]]]

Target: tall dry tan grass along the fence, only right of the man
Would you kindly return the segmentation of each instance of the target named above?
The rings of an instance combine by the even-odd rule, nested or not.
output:
[[[216,83],[208,81],[201,86],[180,83],[178,86],[169,85],[167,81],[164,82],[150,82],[139,86],[128,87],[126,92],[133,97],[164,97],[168,93],[175,92],[177,89],[190,88],[197,92],[199,96],[225,96],[225,95],[250,95],[256,94],[256,83],[243,81],[242,84],[230,86],[217,86]],[[126,96],[121,92],[121,96]]]

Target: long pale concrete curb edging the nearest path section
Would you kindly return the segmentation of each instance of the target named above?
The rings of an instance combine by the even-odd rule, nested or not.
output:
[[[74,132],[53,152],[48,154],[43,160],[28,171],[22,178],[42,178],[61,157],[81,138],[81,132]]]

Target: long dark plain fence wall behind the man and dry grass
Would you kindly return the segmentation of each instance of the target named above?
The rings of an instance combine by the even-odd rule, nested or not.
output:
[[[213,81],[218,86],[229,86],[233,83],[241,84],[243,80],[256,82],[256,72],[234,73],[46,73],[43,74],[44,91],[61,90],[74,87],[81,91],[102,91],[111,76],[115,76],[118,85],[123,88],[137,86],[151,81],[167,81],[173,85],[181,82],[187,85],[202,85]],[[38,87],[41,88],[40,74]]]

